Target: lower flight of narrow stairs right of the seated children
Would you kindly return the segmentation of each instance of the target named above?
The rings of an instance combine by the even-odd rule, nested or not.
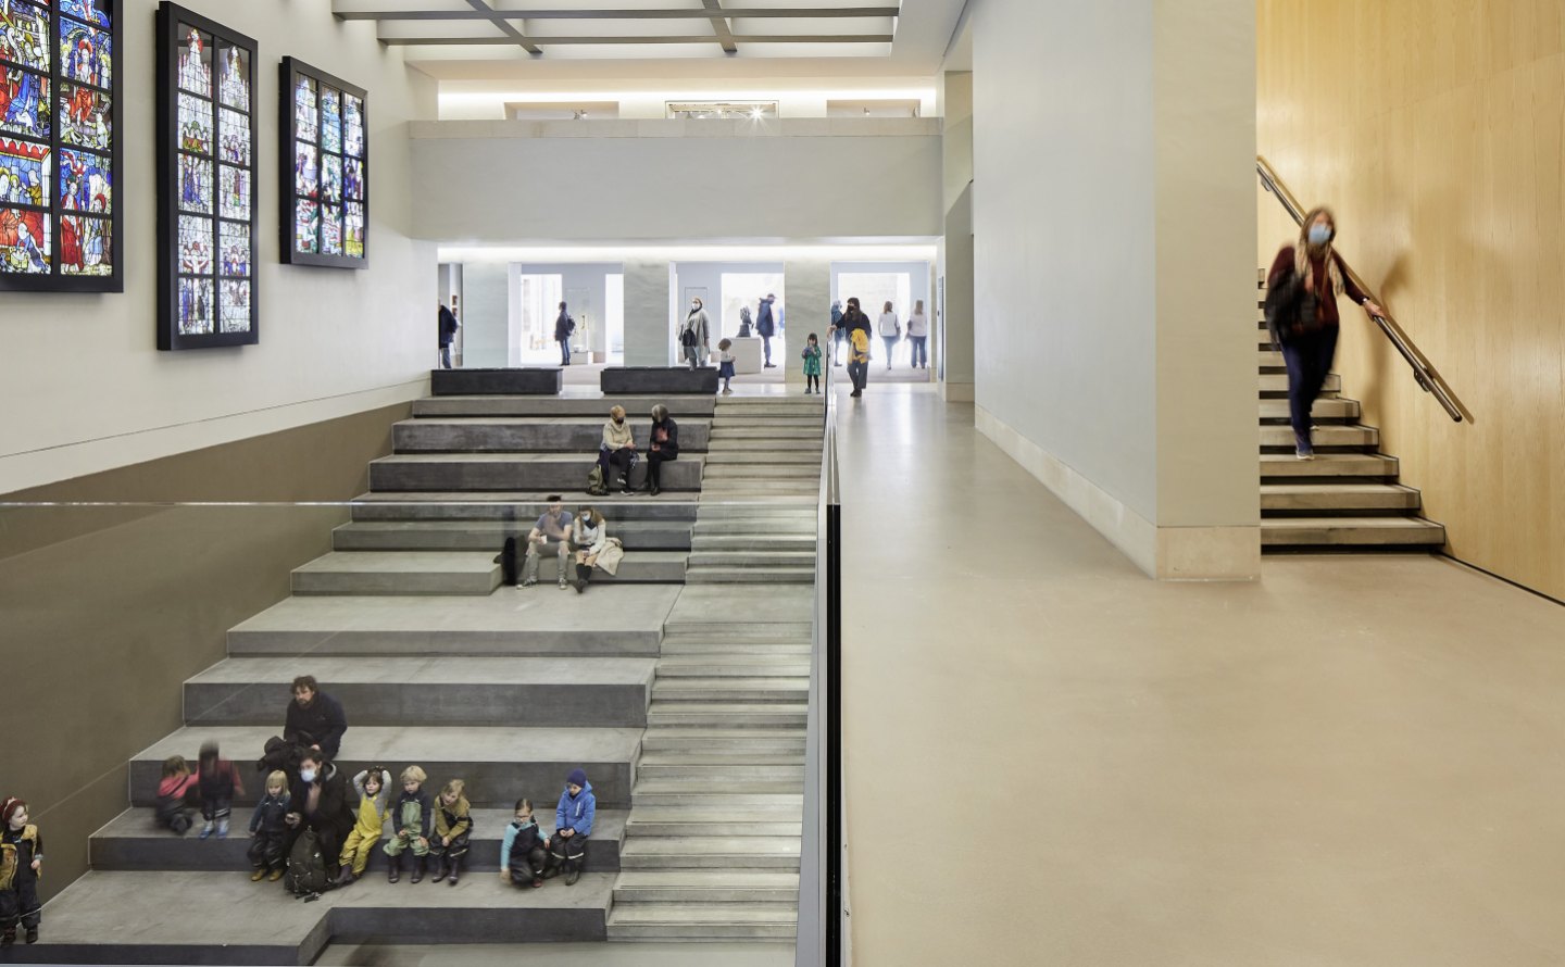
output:
[[[709,604],[693,604],[707,618],[725,595],[703,585],[685,593],[706,595]],[[803,606],[797,612],[808,618]],[[671,617],[610,940],[793,939],[809,649],[808,620],[682,624]]]

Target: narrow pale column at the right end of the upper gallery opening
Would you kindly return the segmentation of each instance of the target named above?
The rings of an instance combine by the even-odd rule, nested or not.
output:
[[[945,114],[942,211],[945,232],[936,268],[933,350],[941,396],[947,402],[973,399],[973,75],[948,70],[942,77]],[[941,283],[944,279],[944,307]]]

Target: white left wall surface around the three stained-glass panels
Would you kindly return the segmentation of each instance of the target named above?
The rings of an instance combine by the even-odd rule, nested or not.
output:
[[[330,0],[186,0],[260,42],[255,64],[260,344],[158,352],[155,0],[124,0],[124,169],[114,205],[125,291],[0,293],[0,493],[369,410],[419,396],[435,360],[435,247],[415,241],[408,122],[435,84],[341,23]],[[369,268],[279,263],[279,77],[296,56],[369,91]],[[423,233],[421,233],[423,235]]]

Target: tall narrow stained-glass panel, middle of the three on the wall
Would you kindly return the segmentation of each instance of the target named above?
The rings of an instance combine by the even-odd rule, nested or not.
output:
[[[255,41],[158,8],[158,349],[260,338]]]

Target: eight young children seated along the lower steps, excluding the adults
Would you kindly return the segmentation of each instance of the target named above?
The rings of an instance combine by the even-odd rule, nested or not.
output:
[[[387,879],[402,878],[402,854],[413,853],[415,867],[410,879],[419,883],[427,872],[429,857],[440,861],[434,883],[457,886],[463,857],[473,837],[473,807],[466,798],[462,779],[446,782],[438,796],[424,792],[429,776],[418,765],[402,770],[402,792],[391,801],[391,773],[379,765],[354,776],[358,793],[358,809],[352,832],[343,842],[333,886],[344,887],[365,875],[374,847],[385,834],[387,821],[391,836],[382,851],[387,854]],[[290,825],[293,807],[290,776],[282,770],[266,776],[266,795],[250,814],[249,859],[252,883],[282,879],[288,867],[293,840],[304,825]],[[185,834],[192,825],[192,800],[200,801],[207,823],[200,839],[216,834],[228,836],[228,814],[235,795],[244,795],[233,764],[218,754],[216,743],[205,743],[192,773],[182,756],[171,756],[163,764],[163,781],[158,784],[156,821],[174,832]],[[532,815],[532,801],[516,800],[515,820],[507,825],[499,851],[501,881],[513,886],[543,886],[545,876],[565,873],[565,884],[574,886],[587,856],[587,840],[592,836],[598,800],[593,795],[587,773],[571,770],[556,807],[554,836],[543,836]],[[31,934],[30,934],[31,936]]]

